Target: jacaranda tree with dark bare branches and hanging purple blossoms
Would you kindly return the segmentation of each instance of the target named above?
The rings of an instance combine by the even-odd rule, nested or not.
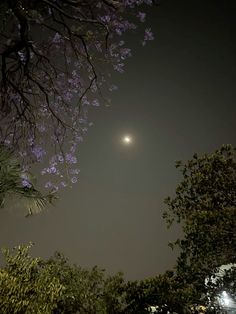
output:
[[[44,161],[45,187],[78,178],[77,149],[90,106],[108,101],[112,70],[131,55],[123,35],[145,22],[152,0],[2,0],[0,142],[24,171]],[[144,27],[141,43],[153,39]]]

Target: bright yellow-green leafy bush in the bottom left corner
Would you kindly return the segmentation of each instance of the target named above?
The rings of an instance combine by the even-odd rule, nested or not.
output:
[[[51,314],[64,287],[51,275],[50,266],[28,254],[29,246],[4,251],[6,266],[0,269],[1,313]]]

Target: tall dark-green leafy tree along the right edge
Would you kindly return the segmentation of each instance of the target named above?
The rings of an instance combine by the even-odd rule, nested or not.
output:
[[[165,200],[168,225],[177,221],[183,230],[183,238],[175,242],[180,249],[177,274],[199,291],[198,302],[205,296],[202,302],[206,304],[209,285],[205,278],[214,277],[221,265],[236,262],[235,157],[235,149],[223,145],[213,154],[195,154],[186,164],[177,162],[183,180],[175,197]],[[222,280],[217,281],[218,290]]]

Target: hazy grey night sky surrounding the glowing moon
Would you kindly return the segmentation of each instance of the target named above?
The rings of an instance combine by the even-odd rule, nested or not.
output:
[[[149,12],[155,41],[114,75],[112,105],[90,112],[94,126],[80,148],[80,181],[55,207],[32,218],[0,212],[0,246],[33,241],[34,255],[63,252],[142,279],[174,265],[178,236],[162,220],[163,199],[180,176],[174,164],[194,152],[236,145],[236,2],[163,0]],[[133,142],[124,145],[123,135]]]

